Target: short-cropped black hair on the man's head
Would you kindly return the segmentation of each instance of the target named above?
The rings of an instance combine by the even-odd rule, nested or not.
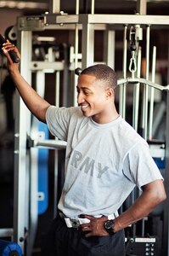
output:
[[[93,75],[97,80],[103,80],[106,87],[113,88],[114,90],[117,86],[115,71],[105,64],[96,64],[87,67],[82,70],[82,74]]]

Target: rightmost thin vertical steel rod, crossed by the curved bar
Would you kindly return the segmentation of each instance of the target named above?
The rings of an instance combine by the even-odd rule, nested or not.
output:
[[[156,63],[156,47],[153,47],[152,58],[152,82],[155,82],[155,63]],[[150,105],[149,105],[149,140],[153,137],[153,116],[154,116],[155,88],[150,88]]]

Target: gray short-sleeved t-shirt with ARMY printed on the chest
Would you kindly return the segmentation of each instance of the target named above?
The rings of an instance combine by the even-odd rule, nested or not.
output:
[[[141,189],[162,179],[148,144],[121,116],[99,125],[78,107],[51,106],[46,120],[49,131],[67,142],[65,184],[58,206],[66,216],[110,215],[135,185]]]

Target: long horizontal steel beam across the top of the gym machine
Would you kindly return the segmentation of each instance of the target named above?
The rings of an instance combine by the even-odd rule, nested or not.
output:
[[[26,31],[40,31],[44,29],[64,29],[65,25],[75,27],[75,24],[82,24],[87,19],[88,24],[102,25],[164,25],[168,26],[168,15],[39,15],[39,16],[22,16],[18,18],[18,29]],[[58,25],[58,26],[57,26]],[[60,26],[62,25],[62,26]],[[73,26],[72,26],[73,25]],[[66,26],[68,29],[68,26]]]

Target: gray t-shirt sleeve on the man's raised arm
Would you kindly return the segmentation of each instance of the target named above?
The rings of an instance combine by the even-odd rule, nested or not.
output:
[[[67,140],[70,122],[70,108],[50,106],[46,113],[48,130],[60,140]]]

